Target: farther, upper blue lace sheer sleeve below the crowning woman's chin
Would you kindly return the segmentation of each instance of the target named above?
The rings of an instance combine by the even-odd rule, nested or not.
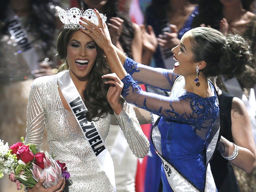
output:
[[[124,68],[137,83],[143,83],[165,91],[171,90],[177,77],[177,74],[173,73],[172,70],[136,63],[129,57],[125,60]]]

